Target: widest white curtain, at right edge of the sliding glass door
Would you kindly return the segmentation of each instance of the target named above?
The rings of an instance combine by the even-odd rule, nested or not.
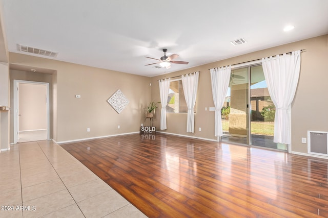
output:
[[[291,143],[291,104],[294,99],[301,65],[301,51],[262,58],[264,77],[271,99],[276,106],[274,139]]]

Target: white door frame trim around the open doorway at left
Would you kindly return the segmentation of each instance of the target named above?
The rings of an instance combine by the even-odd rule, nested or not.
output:
[[[50,91],[49,91],[49,83],[47,82],[35,82],[35,81],[27,81],[27,80],[14,80],[13,85],[13,136],[14,136],[14,144],[17,143],[18,140],[18,130],[19,130],[19,118],[18,118],[18,107],[19,107],[19,83],[25,84],[37,84],[37,85],[46,85],[47,87],[47,140],[50,139]]]

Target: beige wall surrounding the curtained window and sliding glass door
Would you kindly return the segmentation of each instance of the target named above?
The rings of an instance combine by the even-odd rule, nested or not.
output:
[[[308,130],[328,131],[327,121],[327,81],[328,81],[328,36],[319,36],[298,42],[272,47],[258,52],[245,54],[226,60],[217,61],[186,70],[167,74],[166,78],[200,71],[199,85],[196,100],[195,133],[186,132],[187,114],[168,114],[168,129],[164,132],[190,135],[194,137],[216,139],[214,136],[214,111],[205,111],[205,107],[214,107],[211,90],[210,68],[237,64],[247,61],[269,57],[286,52],[305,49],[301,54],[301,72],[292,104],[292,151],[307,152],[307,145],[301,143],[301,137],[307,136]],[[152,78],[152,100],[160,101],[158,79]],[[321,104],[317,104],[321,102]],[[160,110],[156,113],[154,125],[159,127]],[[201,128],[201,132],[198,128]]]

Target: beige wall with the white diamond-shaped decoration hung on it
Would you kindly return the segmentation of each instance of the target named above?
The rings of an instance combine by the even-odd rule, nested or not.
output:
[[[143,108],[151,99],[148,77],[16,53],[10,53],[10,63],[56,70],[52,106],[56,141],[137,132],[144,122]],[[120,114],[107,102],[117,89],[130,101]]]

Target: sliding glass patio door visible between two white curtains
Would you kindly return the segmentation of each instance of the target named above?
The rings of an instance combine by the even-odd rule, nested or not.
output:
[[[231,70],[222,108],[222,141],[287,150],[273,142],[275,106],[262,65]]]

